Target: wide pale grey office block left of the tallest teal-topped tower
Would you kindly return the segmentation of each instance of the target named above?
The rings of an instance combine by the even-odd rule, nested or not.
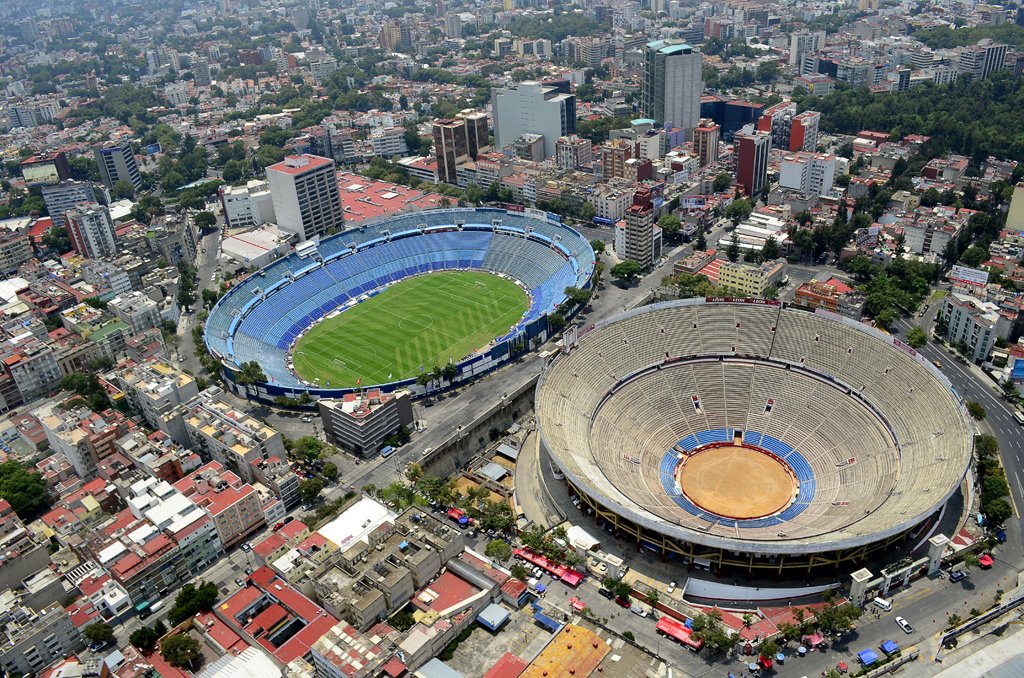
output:
[[[558,137],[575,134],[575,95],[537,81],[490,90],[495,143],[506,149],[523,134],[544,137],[544,155],[555,155]]]

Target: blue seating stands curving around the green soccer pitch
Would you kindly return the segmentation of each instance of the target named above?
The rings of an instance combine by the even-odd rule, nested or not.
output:
[[[293,253],[236,285],[207,320],[210,350],[236,365],[258,361],[273,383],[301,386],[287,367],[295,339],[326,314],[391,283],[451,269],[485,270],[519,282],[530,305],[501,341],[556,308],[565,288],[586,286],[594,269],[593,249],[577,231],[494,209],[396,216],[326,238],[316,253]]]

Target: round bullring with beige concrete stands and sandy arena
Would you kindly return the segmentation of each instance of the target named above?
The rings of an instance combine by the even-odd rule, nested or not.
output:
[[[861,566],[920,541],[973,453],[964,402],[913,349],[761,300],[586,328],[536,402],[544,449],[603,527],[716,570]]]

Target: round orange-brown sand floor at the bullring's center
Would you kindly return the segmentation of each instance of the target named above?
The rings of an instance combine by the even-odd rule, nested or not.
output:
[[[709,513],[750,520],[785,509],[798,482],[788,465],[751,446],[709,446],[684,457],[676,470],[679,488]]]

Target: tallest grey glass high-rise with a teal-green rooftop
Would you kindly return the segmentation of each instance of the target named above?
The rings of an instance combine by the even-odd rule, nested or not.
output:
[[[682,43],[655,40],[644,49],[643,112],[659,125],[671,123],[693,133],[703,93],[700,52]]]

